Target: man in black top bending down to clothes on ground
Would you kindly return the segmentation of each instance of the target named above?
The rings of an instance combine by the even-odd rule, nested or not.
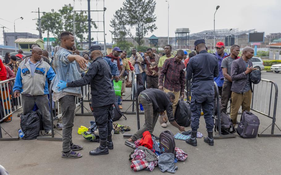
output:
[[[183,126],[179,126],[174,119],[172,103],[175,100],[173,92],[165,93],[159,89],[150,88],[140,92],[139,103],[145,111],[145,124],[131,138],[125,141],[125,145],[135,149],[133,143],[142,136],[145,131],[153,132],[159,113],[167,112],[169,122],[181,132],[185,131]],[[159,138],[158,138],[159,139]]]

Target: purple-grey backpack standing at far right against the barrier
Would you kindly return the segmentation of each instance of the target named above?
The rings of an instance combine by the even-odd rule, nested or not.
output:
[[[255,138],[258,135],[259,119],[252,112],[244,111],[236,129],[243,138]]]

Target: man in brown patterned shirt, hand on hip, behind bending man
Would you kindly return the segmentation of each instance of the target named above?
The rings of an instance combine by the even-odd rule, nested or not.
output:
[[[147,75],[147,88],[158,89],[158,61],[159,56],[152,52],[151,48],[146,50],[147,57],[140,63],[142,70]],[[145,69],[146,65],[146,69]]]

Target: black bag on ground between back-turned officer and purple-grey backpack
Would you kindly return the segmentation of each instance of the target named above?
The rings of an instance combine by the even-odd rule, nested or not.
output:
[[[216,120],[215,125],[215,131],[219,130],[218,120]],[[222,111],[220,112],[220,128],[221,134],[223,135],[229,134],[230,132],[235,132],[232,120],[230,119],[229,115],[225,114]]]

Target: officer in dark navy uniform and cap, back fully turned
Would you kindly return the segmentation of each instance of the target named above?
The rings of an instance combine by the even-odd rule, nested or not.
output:
[[[194,43],[195,51],[199,54],[189,60],[186,79],[192,78],[191,85],[191,138],[186,140],[187,144],[197,146],[197,129],[201,108],[204,113],[208,136],[204,142],[214,145],[213,139],[213,101],[214,101],[214,77],[218,76],[218,60],[215,55],[206,51],[204,39],[197,39]]]

